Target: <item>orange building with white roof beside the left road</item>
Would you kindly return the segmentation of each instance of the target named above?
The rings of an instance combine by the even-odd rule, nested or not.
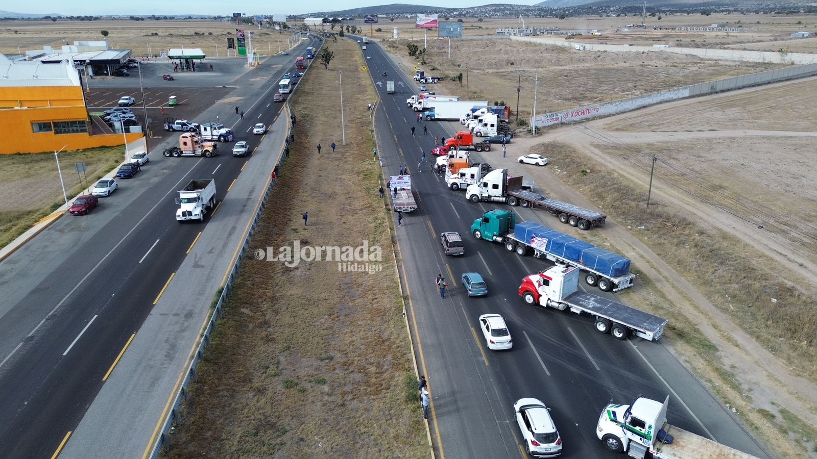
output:
[[[82,81],[69,60],[15,62],[0,54],[0,154],[124,145],[123,135],[95,134]],[[127,141],[143,134],[127,133]]]

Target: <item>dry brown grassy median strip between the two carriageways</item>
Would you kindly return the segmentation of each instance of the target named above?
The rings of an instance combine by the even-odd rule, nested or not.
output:
[[[252,236],[260,252],[243,262],[168,457],[428,457],[372,157],[375,94],[357,43],[327,46],[329,69],[315,59],[290,100],[295,142]],[[275,261],[283,247],[301,259]],[[357,258],[307,261],[304,247]]]

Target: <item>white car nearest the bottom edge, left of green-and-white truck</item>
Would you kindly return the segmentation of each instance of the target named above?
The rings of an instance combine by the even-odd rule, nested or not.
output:
[[[525,440],[525,451],[534,457],[556,457],[562,442],[551,418],[551,409],[539,399],[519,399],[513,404],[516,424]]]

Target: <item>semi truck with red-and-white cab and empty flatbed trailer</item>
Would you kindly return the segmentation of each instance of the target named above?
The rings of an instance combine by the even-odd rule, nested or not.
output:
[[[610,333],[618,340],[626,340],[631,333],[647,341],[657,341],[661,337],[667,319],[618,301],[579,292],[578,276],[576,266],[552,266],[541,273],[525,276],[519,287],[519,296],[526,305],[589,314],[597,332]]]

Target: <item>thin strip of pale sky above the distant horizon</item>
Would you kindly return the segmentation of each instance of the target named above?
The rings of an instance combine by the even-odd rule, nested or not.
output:
[[[540,0],[536,0],[538,2]],[[447,0],[445,7],[462,8],[486,5],[493,0]],[[531,0],[514,0],[516,4],[533,5]],[[63,16],[101,16],[101,15],[185,15],[207,14],[226,16],[231,13],[244,13],[248,16],[271,15],[274,13],[303,15],[315,11],[342,11],[350,8],[407,3],[410,5],[439,4],[434,0],[299,0],[297,2],[270,2],[269,0],[242,0],[230,2],[223,0],[140,0],[138,2],[88,2],[87,0],[39,0],[30,6],[11,7],[3,5],[0,9],[16,13],[59,14]]]

